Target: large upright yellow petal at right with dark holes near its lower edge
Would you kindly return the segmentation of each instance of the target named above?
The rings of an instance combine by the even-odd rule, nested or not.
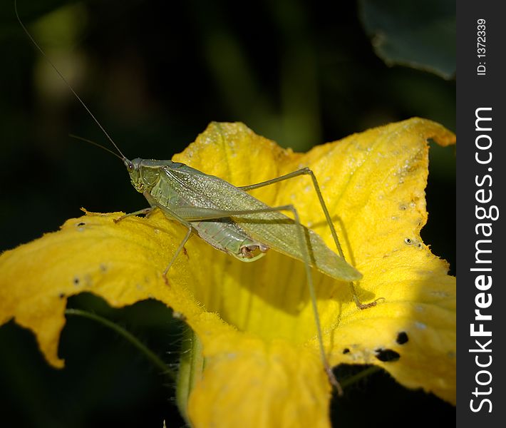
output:
[[[372,310],[351,304],[334,312],[341,317],[331,327],[331,362],[381,365],[398,382],[455,403],[455,278],[420,238],[427,221],[427,138],[455,141],[442,126],[415,118],[345,138],[331,149],[334,156],[353,153],[340,169],[346,176],[341,191],[332,186],[340,196],[329,197],[337,201],[331,211],[341,218],[348,253],[363,273],[364,298],[385,298]],[[329,158],[325,146],[311,154],[316,163]],[[408,342],[399,344],[399,334]],[[388,350],[398,360],[378,361]]]

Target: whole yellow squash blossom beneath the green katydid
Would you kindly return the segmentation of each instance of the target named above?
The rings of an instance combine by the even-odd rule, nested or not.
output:
[[[363,274],[359,297],[384,298],[358,310],[346,282],[313,272],[329,362],[379,365],[406,387],[454,403],[455,278],[420,239],[428,138],[455,142],[437,123],[413,118],[299,154],[242,124],[212,123],[173,161],[234,185],[309,166],[347,260]],[[272,206],[293,203],[333,248],[309,178],[252,194]],[[0,324],[14,317],[33,330],[48,362],[62,367],[68,296],[89,291],[115,307],[153,297],[182,314],[202,346],[186,409],[194,427],[328,427],[331,389],[302,263],[274,250],[241,263],[195,237],[165,285],[162,271],[186,229],[156,211],[113,223],[120,215],[86,213],[3,253]]]

